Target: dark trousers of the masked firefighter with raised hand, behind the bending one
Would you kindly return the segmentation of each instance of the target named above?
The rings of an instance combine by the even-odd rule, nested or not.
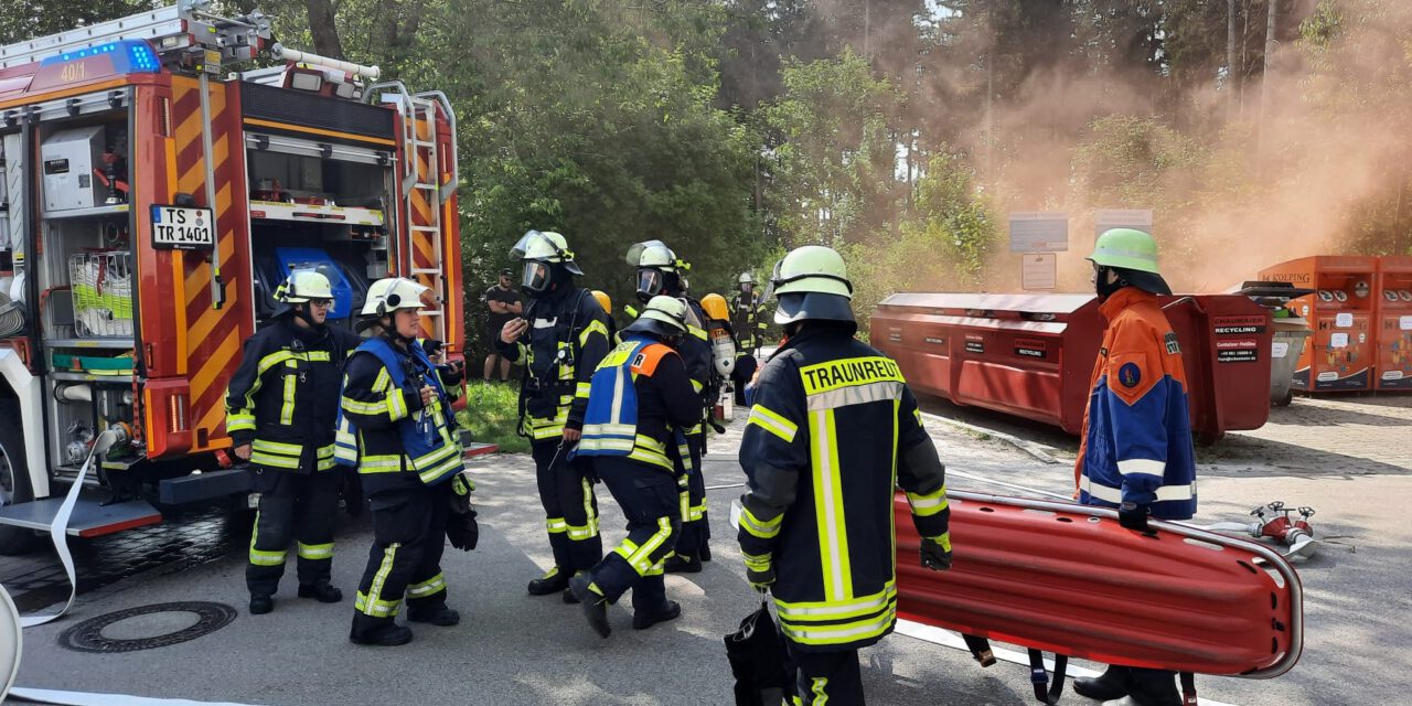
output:
[[[559,450],[559,439],[531,446],[554,565],[572,576],[603,558],[603,538],[593,481],[580,470],[583,462],[570,463],[568,455],[568,448]]]

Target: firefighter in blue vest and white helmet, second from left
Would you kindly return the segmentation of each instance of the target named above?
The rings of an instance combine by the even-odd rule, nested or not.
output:
[[[409,621],[459,623],[460,614],[446,607],[442,551],[448,535],[457,548],[474,546],[474,515],[459,515],[463,524],[449,525],[469,484],[450,397],[417,340],[428,292],[400,277],[369,287],[359,322],[366,337],[343,381],[337,455],[357,463],[373,508],[373,546],[349,631],[349,640],[361,645],[412,640],[411,630],[393,621],[404,594]]]

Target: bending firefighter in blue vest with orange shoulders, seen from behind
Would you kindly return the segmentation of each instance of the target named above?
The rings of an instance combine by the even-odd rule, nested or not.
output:
[[[654,297],[593,373],[578,453],[623,505],[628,534],[569,586],[602,637],[611,631],[609,604],[628,589],[634,630],[682,614],[675,600],[666,600],[662,575],[681,531],[676,470],[666,449],[679,443],[681,429],[700,421],[686,364],[675,350],[685,333],[686,305]]]

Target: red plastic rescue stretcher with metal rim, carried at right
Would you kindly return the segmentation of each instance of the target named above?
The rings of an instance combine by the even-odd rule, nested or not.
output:
[[[1103,664],[1268,679],[1303,648],[1299,575],[1264,545],[1154,521],[1142,534],[1113,510],[983,493],[949,491],[953,566],[918,565],[911,507],[898,493],[898,614],[967,637],[986,664],[984,640]],[[1183,675],[1187,699],[1195,688]]]

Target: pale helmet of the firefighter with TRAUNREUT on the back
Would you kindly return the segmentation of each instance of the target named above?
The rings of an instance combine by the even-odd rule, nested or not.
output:
[[[775,323],[843,321],[854,323],[853,282],[843,256],[823,246],[803,246],[775,263],[770,287],[779,306]]]

